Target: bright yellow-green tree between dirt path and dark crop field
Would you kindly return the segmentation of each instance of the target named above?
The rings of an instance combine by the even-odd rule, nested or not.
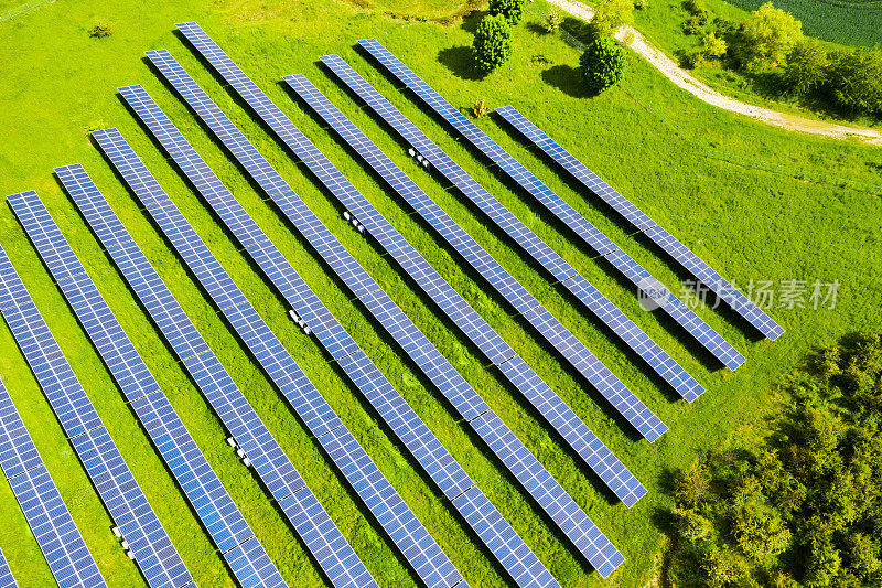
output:
[[[766,2],[741,25],[739,61],[746,67],[777,65],[802,38],[803,23]]]

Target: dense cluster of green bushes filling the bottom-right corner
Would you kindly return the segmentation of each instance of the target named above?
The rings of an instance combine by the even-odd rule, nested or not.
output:
[[[763,442],[677,474],[677,586],[882,586],[882,336],[822,350],[786,392]]]

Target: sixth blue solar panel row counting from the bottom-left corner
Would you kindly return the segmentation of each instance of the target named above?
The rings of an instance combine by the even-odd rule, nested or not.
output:
[[[309,381],[217,258],[116,129],[93,133],[267,375],[429,586],[454,586],[453,564]]]

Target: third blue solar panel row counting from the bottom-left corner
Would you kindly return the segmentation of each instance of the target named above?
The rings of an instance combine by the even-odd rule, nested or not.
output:
[[[15,269],[2,255],[0,311],[151,587],[193,581]],[[69,279],[69,277],[65,278]]]

